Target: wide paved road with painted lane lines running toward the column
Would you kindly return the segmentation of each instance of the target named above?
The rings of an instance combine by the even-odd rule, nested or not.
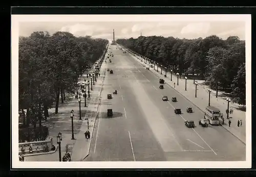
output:
[[[203,113],[147,71],[130,54],[111,47],[114,57],[103,85],[99,118],[86,161],[245,161],[245,145],[219,126],[201,127]],[[118,91],[113,99],[106,95]],[[162,96],[178,102],[163,102]],[[187,106],[194,113],[186,113]],[[174,113],[181,108],[182,115]],[[113,118],[106,109],[112,108]],[[187,128],[184,120],[194,120]]]

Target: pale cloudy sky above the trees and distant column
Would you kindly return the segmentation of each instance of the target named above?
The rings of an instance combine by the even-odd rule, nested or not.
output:
[[[245,21],[243,20],[182,20],[182,21],[24,21],[19,23],[19,36],[29,36],[34,31],[48,31],[53,34],[57,31],[67,31],[75,36],[90,35],[93,38],[115,39],[137,38],[142,36],[164,36],[177,38],[205,38],[210,35],[217,35],[222,39],[229,36],[238,36],[245,40]]]

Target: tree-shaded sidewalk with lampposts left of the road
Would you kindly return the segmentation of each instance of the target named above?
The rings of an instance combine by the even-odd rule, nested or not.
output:
[[[103,65],[103,63],[102,63]],[[92,68],[90,71],[94,71],[94,68]],[[100,72],[102,71],[102,67]],[[79,80],[84,80],[86,77],[85,74]],[[97,78],[97,82],[95,82],[95,85],[93,85],[93,91],[91,91],[91,85],[90,85],[90,98],[87,97],[87,106],[84,107],[84,98],[81,98],[81,118],[82,120],[79,120],[79,102],[77,99],[75,99],[74,95],[66,94],[66,101],[63,104],[59,104],[58,107],[58,114],[55,115],[55,107],[49,109],[49,115],[50,117],[47,119],[47,122],[43,121],[42,125],[45,125],[49,128],[49,136],[53,137],[53,144],[56,147],[56,151],[54,153],[38,153],[37,155],[33,154],[33,156],[27,156],[25,157],[25,161],[59,161],[59,152],[58,152],[58,144],[57,144],[57,135],[59,132],[62,134],[62,141],[60,144],[61,147],[61,158],[66,153],[66,145],[68,145],[68,152],[72,156],[73,149],[75,148],[75,144],[77,143],[77,140],[79,140],[79,132],[82,129],[84,122],[86,122],[87,127],[87,121],[84,121],[84,117],[87,115],[91,116],[92,111],[91,107],[92,105],[95,106],[95,100],[98,98],[99,93],[99,85],[102,82],[103,75],[100,75],[100,77]],[[72,126],[71,126],[71,118],[70,118],[70,112],[71,110],[74,110],[74,138],[75,140],[71,140],[72,138]],[[90,119],[89,119],[90,120]],[[89,122],[90,124],[90,122]],[[87,128],[86,128],[87,130]],[[92,131],[91,131],[92,135]],[[84,138],[84,135],[83,135]],[[71,159],[73,156],[71,157]],[[73,159],[72,159],[73,161]]]

